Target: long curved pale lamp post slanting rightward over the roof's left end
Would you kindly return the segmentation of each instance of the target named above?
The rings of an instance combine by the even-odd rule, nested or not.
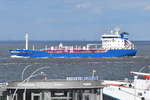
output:
[[[45,75],[44,72],[41,72],[40,74],[35,74],[35,73],[37,73],[38,71],[40,71],[40,70],[42,70],[42,69],[48,69],[48,68],[50,68],[50,67],[41,67],[41,68],[36,69],[34,72],[31,73],[31,75],[30,75],[29,77],[27,77],[26,79],[24,79],[24,80],[21,82],[21,84],[23,84],[23,83],[25,83],[25,82],[29,82],[29,80],[30,80],[32,77],[36,77],[36,76],[38,76],[38,75]],[[18,87],[16,88],[16,90],[15,90],[14,93],[13,93],[12,100],[14,100],[14,97],[15,97],[15,94],[16,94],[17,90],[18,90]]]

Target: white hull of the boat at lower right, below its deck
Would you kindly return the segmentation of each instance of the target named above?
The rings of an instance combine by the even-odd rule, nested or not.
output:
[[[150,91],[119,86],[108,86],[104,94],[116,100],[150,100]]]

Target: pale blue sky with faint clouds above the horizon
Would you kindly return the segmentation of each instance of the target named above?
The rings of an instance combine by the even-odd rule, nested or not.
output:
[[[150,40],[150,0],[0,0],[0,40],[99,40],[115,26]]]

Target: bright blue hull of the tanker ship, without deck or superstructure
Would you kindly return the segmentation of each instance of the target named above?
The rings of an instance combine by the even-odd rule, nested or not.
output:
[[[102,53],[48,53],[46,51],[36,50],[10,50],[11,56],[27,57],[27,58],[50,58],[50,57],[62,57],[62,58],[77,58],[77,57],[124,57],[135,56],[136,50],[119,49],[108,50]]]

